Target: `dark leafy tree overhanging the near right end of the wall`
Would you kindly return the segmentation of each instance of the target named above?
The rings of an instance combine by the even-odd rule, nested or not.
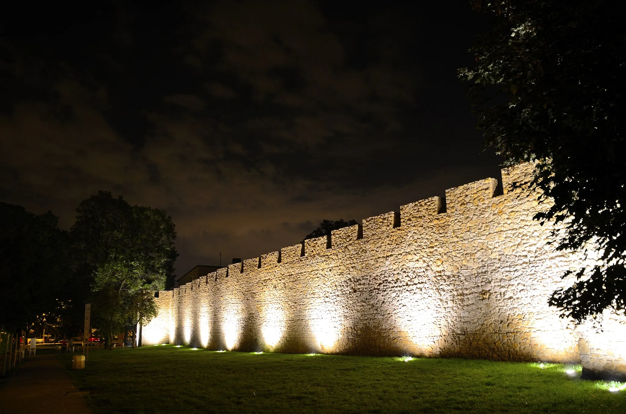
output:
[[[532,186],[546,209],[535,218],[563,226],[557,250],[595,251],[592,268],[565,271],[575,283],[550,305],[582,323],[625,308],[626,25],[623,4],[603,0],[475,1],[493,31],[459,69],[485,143],[506,164],[536,161]],[[552,203],[552,204],[550,204]]]

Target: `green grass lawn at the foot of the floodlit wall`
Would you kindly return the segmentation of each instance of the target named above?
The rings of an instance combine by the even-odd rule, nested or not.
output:
[[[70,375],[96,413],[626,413],[626,389],[563,365],[165,345],[93,351]]]

